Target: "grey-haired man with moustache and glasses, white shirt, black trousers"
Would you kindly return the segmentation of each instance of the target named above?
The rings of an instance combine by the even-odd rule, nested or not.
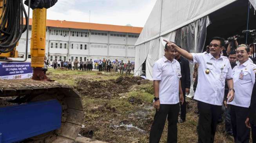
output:
[[[236,143],[249,143],[250,140],[250,129],[244,122],[249,113],[256,65],[249,61],[249,55],[250,48],[247,45],[239,45],[236,49],[239,64],[233,69],[235,97],[228,103],[231,105],[231,124]]]

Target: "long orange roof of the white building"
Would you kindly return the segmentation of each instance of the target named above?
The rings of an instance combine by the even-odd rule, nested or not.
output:
[[[32,25],[31,18],[29,19],[29,25]],[[73,22],[73,21],[65,21],[65,20],[64,21],[46,20],[46,26],[60,27],[60,28],[73,28],[73,29],[90,29],[90,30],[102,30],[102,31],[114,31],[114,32],[128,32],[128,33],[138,33],[138,34],[140,34],[140,32],[142,31],[142,27]]]

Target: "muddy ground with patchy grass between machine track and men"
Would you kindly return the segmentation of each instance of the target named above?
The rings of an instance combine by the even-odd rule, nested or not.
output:
[[[76,89],[84,106],[83,127],[78,136],[109,143],[148,143],[154,119],[153,82],[133,75],[98,71],[47,71],[55,82]],[[194,100],[187,99],[186,122],[178,123],[178,143],[196,143],[198,115]],[[160,143],[167,141],[167,121]],[[233,143],[224,133],[224,122],[218,124],[214,143]]]

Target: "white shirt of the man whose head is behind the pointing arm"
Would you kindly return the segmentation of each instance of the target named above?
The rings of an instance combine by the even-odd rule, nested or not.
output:
[[[163,56],[153,66],[153,80],[160,80],[159,100],[160,104],[177,104],[179,98],[180,63],[173,59],[169,61]]]

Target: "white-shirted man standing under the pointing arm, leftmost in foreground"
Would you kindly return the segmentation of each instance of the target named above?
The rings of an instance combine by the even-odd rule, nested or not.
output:
[[[149,143],[158,143],[160,141],[167,115],[167,142],[177,142],[179,102],[183,103],[184,100],[180,83],[180,63],[174,59],[175,50],[168,49],[166,44],[164,51],[165,55],[156,61],[153,66],[156,114],[149,134]]]

